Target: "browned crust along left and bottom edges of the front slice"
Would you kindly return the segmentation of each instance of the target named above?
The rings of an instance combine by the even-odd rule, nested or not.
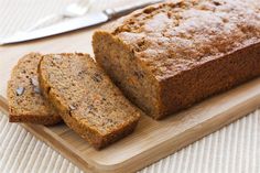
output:
[[[63,54],[65,55],[65,54]],[[66,54],[68,55],[68,54]],[[82,54],[80,54],[82,55]],[[139,119],[132,121],[132,123],[124,123],[116,132],[108,133],[107,136],[100,134],[96,129],[90,128],[75,119],[71,116],[69,109],[63,105],[63,100],[58,98],[57,95],[53,91],[53,88],[48,85],[46,76],[42,72],[41,64],[43,58],[40,62],[39,66],[39,82],[42,89],[43,96],[50,100],[53,106],[59,111],[64,122],[78,133],[82,138],[87,140],[97,150],[107,147],[110,143],[113,143],[121,139],[122,137],[131,133],[138,125]]]

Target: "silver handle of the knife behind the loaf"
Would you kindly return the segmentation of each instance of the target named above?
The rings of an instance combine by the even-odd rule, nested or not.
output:
[[[104,12],[108,15],[109,19],[115,19],[115,18],[126,15],[137,9],[141,9],[147,6],[159,3],[162,1],[164,0],[153,0],[150,2],[144,2],[144,3],[136,4],[136,6],[124,6],[124,7],[113,8],[113,9],[106,9]]]

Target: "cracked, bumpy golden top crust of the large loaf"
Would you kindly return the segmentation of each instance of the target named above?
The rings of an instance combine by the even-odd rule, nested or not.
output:
[[[260,2],[167,1],[109,26],[160,80],[260,42]]]

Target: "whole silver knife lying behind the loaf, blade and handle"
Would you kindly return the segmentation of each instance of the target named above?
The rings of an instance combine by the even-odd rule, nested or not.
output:
[[[101,12],[88,13],[84,17],[69,19],[64,22],[59,22],[57,24],[53,24],[43,29],[39,29],[39,30],[30,31],[30,32],[17,32],[10,37],[0,40],[0,45],[32,41],[36,39],[66,33],[69,31],[78,30],[78,29],[84,29],[87,26],[97,25],[97,24],[110,21],[112,19],[122,17],[124,14],[128,14],[137,9],[141,9],[147,6],[159,3],[162,1],[163,0],[153,0],[153,1],[140,3],[137,6],[126,6],[126,7],[120,7],[120,8],[106,9]]]

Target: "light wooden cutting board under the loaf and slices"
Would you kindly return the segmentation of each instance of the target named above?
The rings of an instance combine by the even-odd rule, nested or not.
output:
[[[52,39],[0,46],[0,107],[8,115],[7,80],[18,60],[29,52],[91,53],[95,29],[80,30]],[[209,134],[260,106],[260,78],[209,98],[164,120],[143,116],[131,136],[96,151],[61,123],[54,127],[22,125],[39,139],[78,165],[91,172],[134,172]]]

